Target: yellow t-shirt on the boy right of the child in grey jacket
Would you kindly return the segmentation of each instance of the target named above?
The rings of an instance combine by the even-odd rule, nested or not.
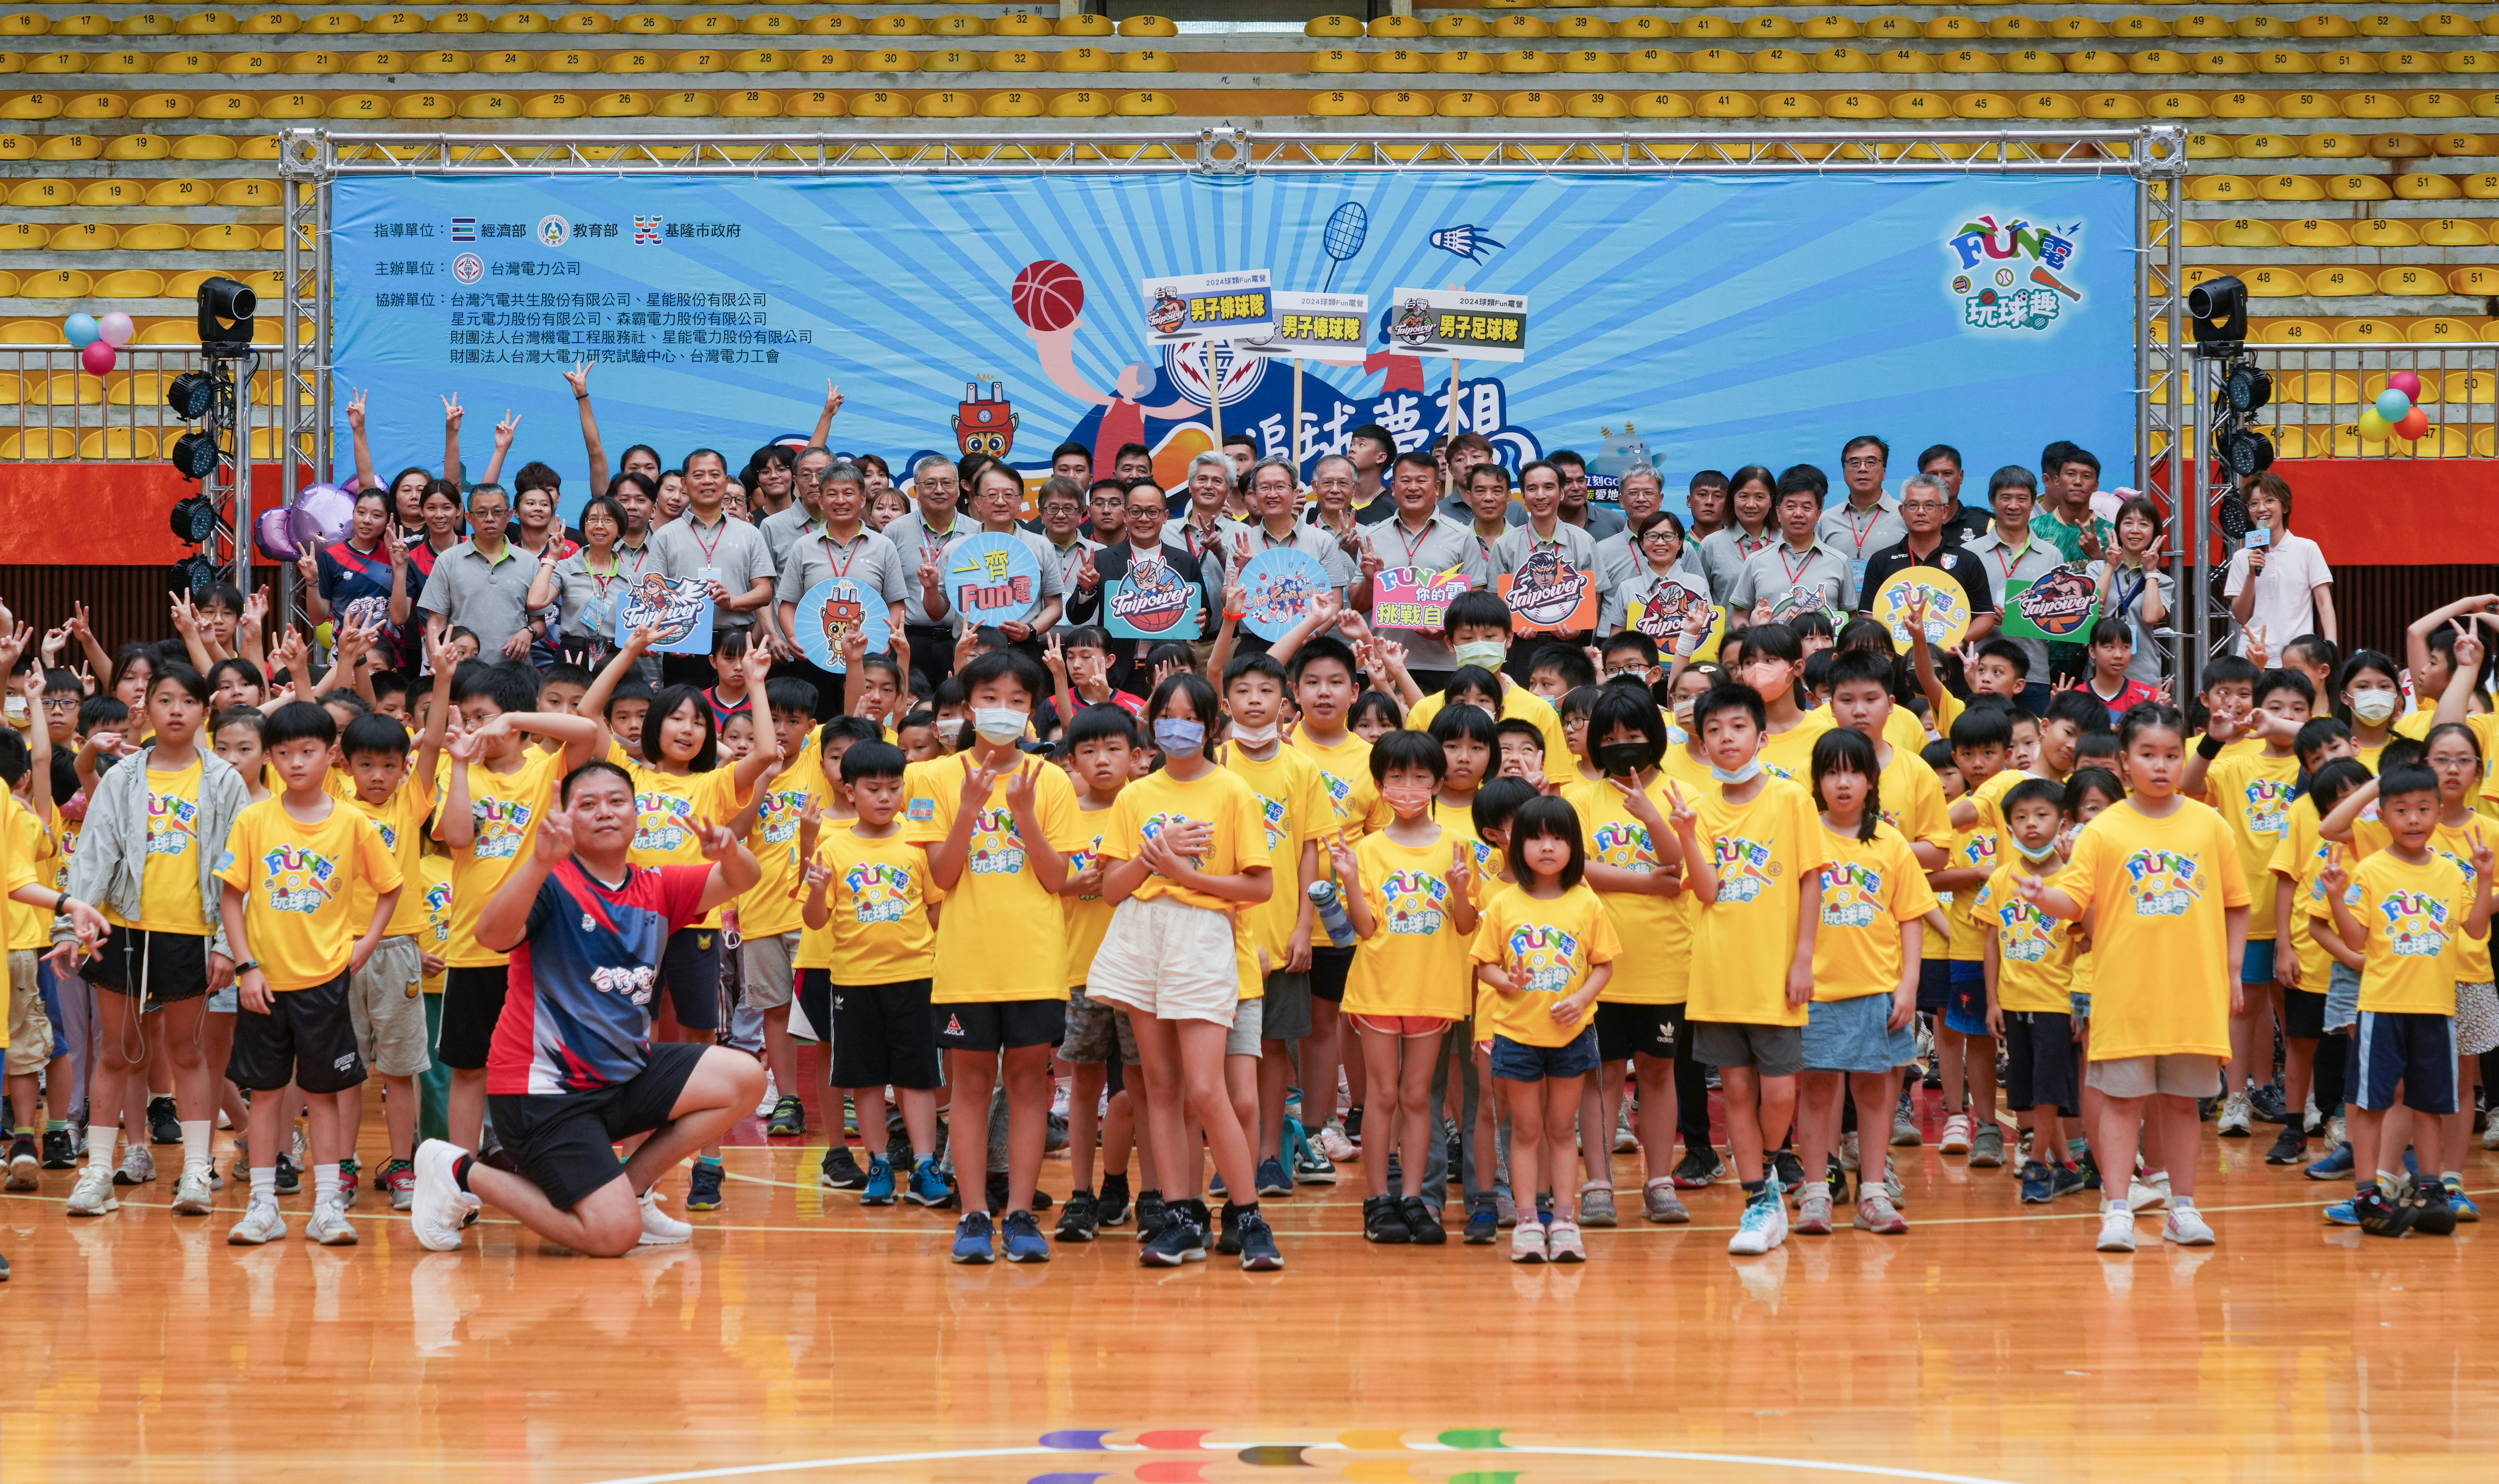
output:
[[[245,894],[242,947],[270,989],[315,989],[347,972],[375,899],[400,889],[400,862],[362,812],[330,799],[330,814],[305,824],[275,797],[235,814],[217,879]],[[372,892],[362,919],[357,882]]]

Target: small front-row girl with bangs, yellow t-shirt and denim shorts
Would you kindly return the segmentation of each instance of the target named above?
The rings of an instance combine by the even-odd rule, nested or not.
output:
[[[1679,809],[1689,832],[1689,809]],[[1597,994],[1622,939],[1582,884],[1587,844],[1562,799],[1529,799],[1509,819],[1514,887],[1492,892],[1474,932],[1474,977],[1492,989],[1492,1077],[1509,1099],[1509,1179],[1554,1192],[1552,1227],[1522,1219],[1509,1262],[1587,1262],[1569,1164],[1579,1089],[1597,1069]],[[1544,1162],[1552,1162],[1552,1169]]]

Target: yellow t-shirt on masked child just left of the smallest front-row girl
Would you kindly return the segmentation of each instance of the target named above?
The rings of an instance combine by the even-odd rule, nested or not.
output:
[[[1474,1007],[1474,939],[1449,922],[1449,849],[1457,837],[1442,827],[1432,844],[1397,844],[1367,834],[1354,847],[1362,897],[1372,907],[1372,934],[1354,947],[1344,974],[1344,1014],[1432,1014],[1464,1019]],[[1497,882],[1474,877],[1482,899]]]

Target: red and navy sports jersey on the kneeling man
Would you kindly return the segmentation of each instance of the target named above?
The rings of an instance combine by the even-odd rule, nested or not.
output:
[[[707,864],[635,867],[610,887],[557,862],[530,904],[530,937],[485,1057],[485,1089],[597,1092],[650,1062],[650,994],[667,934],[702,917]]]

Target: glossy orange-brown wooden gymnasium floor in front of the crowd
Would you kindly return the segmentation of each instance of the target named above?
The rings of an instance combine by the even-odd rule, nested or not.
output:
[[[1132,1229],[952,1267],[950,1219],[820,1192],[820,1137],[745,1134],[695,1244],[620,1262],[497,1219],[427,1254],[370,1194],[360,1247],[310,1247],[310,1182],[285,1244],[230,1249],[232,1187],[205,1222],[170,1172],[70,1222],[47,1172],[0,1197],[0,1479],[2369,1484],[2499,1457],[2484,1229],[2329,1229],[2347,1187],[2264,1167],[2262,1127],[2204,1139],[2212,1249],[2144,1219],[2099,1257],[2082,1199],[2019,1207],[1929,1117],[1907,1237],[1729,1259],[1714,1187],[1692,1227],[1517,1269],[1362,1244],[1349,1167],[1269,1204],[1279,1274],[1145,1272]],[[2469,1187],[2499,1212],[2499,1157]]]

